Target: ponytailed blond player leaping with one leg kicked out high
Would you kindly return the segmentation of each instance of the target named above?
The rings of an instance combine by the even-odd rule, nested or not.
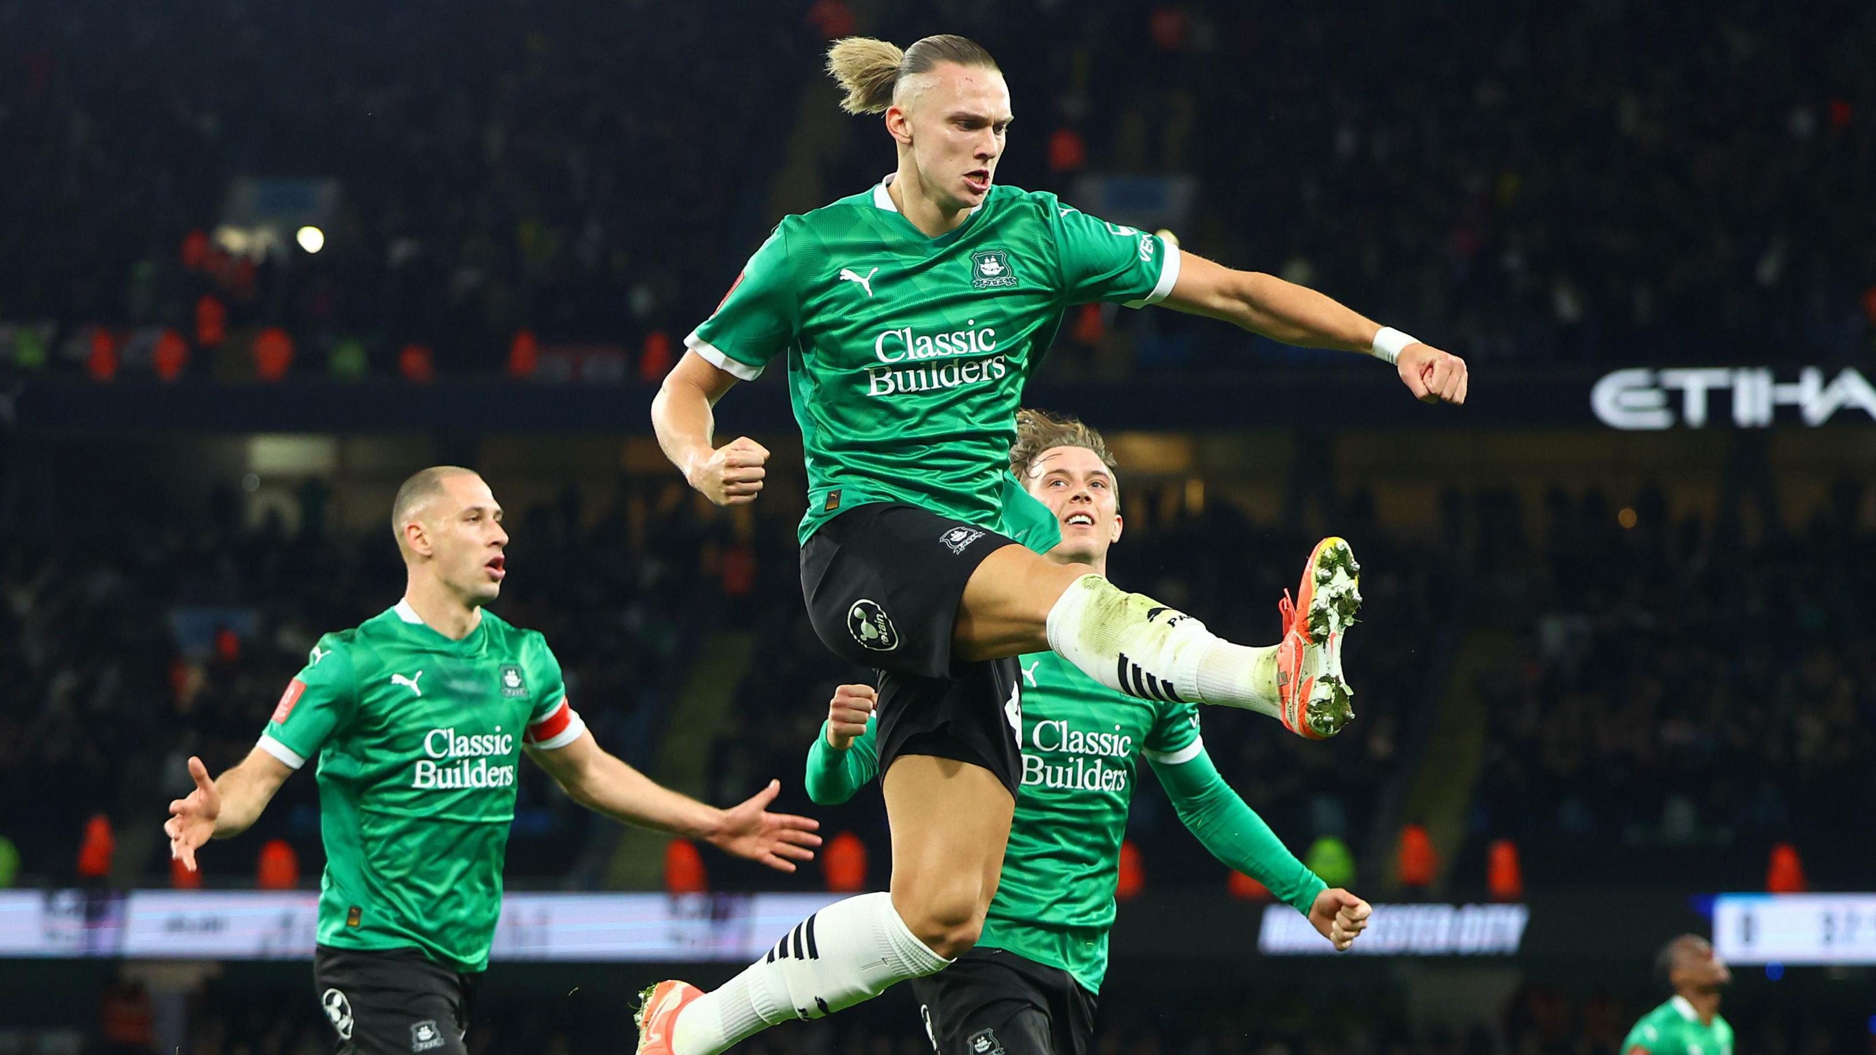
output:
[[[848,111],[885,115],[897,171],[782,220],[687,338],[651,415],[696,490],[754,501],[767,451],[749,437],[719,447],[713,405],[786,353],[809,473],[809,618],[842,659],[882,670],[891,892],[797,925],[816,937],[803,942],[814,956],[754,963],[709,995],[655,986],[640,1016],[647,1055],[717,1055],[767,1025],[932,974],[976,944],[1021,781],[1017,655],[1051,650],[1109,689],[1251,708],[1304,736],[1349,719],[1339,636],[1356,603],[1353,559],[1321,569],[1334,582],[1285,642],[1244,648],[998,531],[1022,385],[1067,308],[1167,304],[1371,353],[1415,396],[1465,400],[1458,357],[1328,297],[1182,253],[1051,193],[996,186],[1009,90],[979,45],[842,39],[829,69]]]

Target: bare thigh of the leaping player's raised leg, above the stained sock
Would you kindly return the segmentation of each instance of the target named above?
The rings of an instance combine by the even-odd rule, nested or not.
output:
[[[1058,565],[1009,544],[977,565],[964,584],[951,631],[955,659],[976,663],[1026,651],[1049,651],[1049,610],[1088,565]]]

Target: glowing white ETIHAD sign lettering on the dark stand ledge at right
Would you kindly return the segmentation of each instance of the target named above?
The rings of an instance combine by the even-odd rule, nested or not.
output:
[[[1642,366],[1606,374],[1589,405],[1602,424],[1625,430],[1705,428],[1709,419],[1728,417],[1737,428],[1767,428],[1778,407],[1795,407],[1797,420],[1820,426],[1842,409],[1876,420],[1876,389],[1848,366],[1829,383],[1816,366],[1799,370],[1797,381],[1777,381],[1769,366]]]

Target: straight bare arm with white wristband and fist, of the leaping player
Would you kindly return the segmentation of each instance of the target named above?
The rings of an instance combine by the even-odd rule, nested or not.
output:
[[[1418,400],[1430,404],[1465,402],[1465,360],[1437,347],[1411,342],[1396,347],[1373,319],[1345,308],[1313,289],[1283,282],[1274,274],[1233,270],[1201,255],[1180,253],[1178,282],[1163,300],[1193,315],[1223,319],[1255,334],[1302,347],[1364,351],[1388,359]],[[1394,340],[1405,338],[1386,330]]]

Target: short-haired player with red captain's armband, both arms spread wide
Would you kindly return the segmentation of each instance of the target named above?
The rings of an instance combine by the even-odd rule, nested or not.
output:
[[[461,1055],[469,1001],[501,914],[501,865],[527,751],[587,809],[705,839],[794,871],[818,826],[767,813],[780,788],[715,809],[608,755],[572,710],[535,631],[482,606],[501,593],[508,533],[482,477],[413,475],[392,511],[403,599],[325,635],[287,683],[261,742],[169,803],[171,854],[195,869],[210,837],[246,832],[280,785],[319,758],[326,871],[313,986],[341,1055]]]

